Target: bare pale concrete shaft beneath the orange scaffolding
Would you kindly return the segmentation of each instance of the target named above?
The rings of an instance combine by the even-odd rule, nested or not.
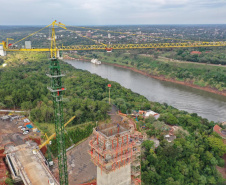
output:
[[[131,185],[130,164],[108,174],[97,166],[97,185]]]

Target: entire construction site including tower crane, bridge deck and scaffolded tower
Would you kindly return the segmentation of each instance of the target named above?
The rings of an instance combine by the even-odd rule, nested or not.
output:
[[[37,32],[17,41],[12,45],[0,43],[0,54],[8,52],[42,51],[50,52],[50,65],[47,76],[50,78],[50,91],[54,109],[55,133],[41,141],[40,131],[19,115],[2,115],[0,120],[0,178],[7,178],[7,171],[17,184],[24,185],[141,185],[141,143],[147,139],[145,134],[136,131],[133,119],[116,111],[111,113],[111,122],[96,125],[92,135],[70,150],[66,149],[63,119],[63,92],[60,51],[70,50],[106,50],[138,48],[174,48],[174,47],[212,47],[225,46],[225,42],[181,42],[148,44],[114,44],[56,46],[55,27],[67,29],[64,24],[53,21],[46,26],[52,28],[50,48],[16,48],[20,42]],[[43,28],[44,29],[44,28]],[[42,30],[42,29],[41,29]],[[83,36],[84,37],[84,36]],[[110,86],[109,86],[110,104]],[[152,112],[150,112],[152,114]],[[154,114],[154,116],[158,116]],[[15,118],[16,117],[16,118]],[[15,119],[13,119],[15,118]],[[70,122],[70,120],[69,120]],[[23,130],[24,129],[24,130]],[[26,130],[27,129],[27,130]],[[19,131],[18,131],[19,130]],[[21,132],[20,130],[23,130]],[[33,129],[32,129],[33,130]],[[57,158],[47,161],[46,145],[56,138]],[[43,142],[43,143],[42,143]],[[53,163],[52,163],[53,162]]]

